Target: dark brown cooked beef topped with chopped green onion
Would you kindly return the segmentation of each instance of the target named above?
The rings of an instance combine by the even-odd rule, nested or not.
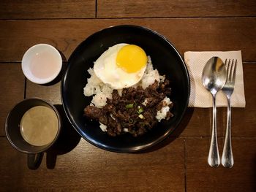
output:
[[[138,88],[124,88],[122,96],[113,90],[112,99],[107,99],[107,104],[102,109],[87,106],[84,115],[92,120],[99,120],[107,126],[108,134],[112,137],[124,134],[124,128],[134,137],[145,134],[157,124],[157,111],[163,107],[162,99],[170,96],[169,80],[158,83],[155,81],[145,90]],[[147,101],[146,106],[143,102]],[[170,110],[173,104],[169,105]],[[167,112],[167,118],[173,117]]]

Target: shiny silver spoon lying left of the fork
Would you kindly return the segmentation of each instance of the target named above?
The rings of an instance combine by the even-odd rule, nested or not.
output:
[[[213,125],[211,132],[211,145],[208,154],[208,164],[213,167],[219,166],[219,149],[217,142],[217,110],[215,98],[227,79],[227,73],[223,61],[218,57],[210,58],[203,68],[202,82],[205,88],[211,92],[213,98]]]

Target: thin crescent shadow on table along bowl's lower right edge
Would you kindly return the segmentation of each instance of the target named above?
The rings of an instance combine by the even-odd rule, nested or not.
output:
[[[169,145],[171,142],[177,139],[180,136],[180,134],[184,131],[184,129],[187,127],[187,124],[189,123],[189,120],[192,117],[193,112],[194,112],[194,108],[188,107],[184,114],[184,118],[181,120],[181,123],[178,125],[178,127],[176,127],[176,129],[170,134],[169,137],[164,139],[162,142],[159,142],[159,144],[148,148],[147,150],[143,150],[141,152],[139,151],[136,153],[148,153],[154,150],[159,150],[160,148],[165,147],[166,145]]]

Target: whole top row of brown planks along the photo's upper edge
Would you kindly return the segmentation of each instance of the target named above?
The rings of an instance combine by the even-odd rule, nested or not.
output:
[[[255,16],[255,1],[62,0],[0,2],[0,19]],[[47,10],[47,11],[46,11]]]

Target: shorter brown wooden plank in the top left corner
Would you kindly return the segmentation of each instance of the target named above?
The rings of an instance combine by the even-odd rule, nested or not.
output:
[[[94,0],[45,0],[0,2],[0,19],[94,18]]]

